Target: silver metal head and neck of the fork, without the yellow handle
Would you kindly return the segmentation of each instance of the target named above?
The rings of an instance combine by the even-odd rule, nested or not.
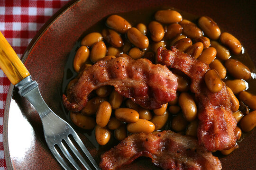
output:
[[[81,147],[82,151],[85,153],[87,158],[91,161],[92,165],[96,170],[100,170],[97,163],[92,158],[91,154],[88,152],[84,144],[82,143],[79,136],[76,134],[74,129],[63,119],[58,117],[43,100],[36,81],[31,80],[31,76],[27,76],[15,85],[19,89],[18,93],[25,97],[37,110],[43,124],[44,134],[46,138],[46,143],[54,154],[55,158],[60,162],[60,164],[66,170],[70,170],[70,167],[61,157],[60,153],[57,151],[55,145],[57,145],[65,157],[73,164],[77,170],[81,170],[78,164],[74,161],[73,157],[68,152],[67,148],[64,146],[63,141],[70,147],[77,158],[82,162],[87,170],[91,170],[88,163],[83,159],[82,155],[78,152],[74,144],[72,143],[69,136],[73,136],[74,140]]]

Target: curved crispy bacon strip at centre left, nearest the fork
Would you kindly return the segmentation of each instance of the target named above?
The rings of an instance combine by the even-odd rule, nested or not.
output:
[[[63,95],[64,106],[74,112],[81,110],[91,91],[102,85],[113,85],[118,93],[144,108],[158,109],[175,99],[178,83],[166,66],[152,64],[148,59],[119,57],[98,61],[68,89],[69,101]]]

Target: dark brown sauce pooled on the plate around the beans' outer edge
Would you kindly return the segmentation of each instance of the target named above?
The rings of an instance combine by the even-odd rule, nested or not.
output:
[[[167,7],[158,7],[158,8],[149,8],[149,9],[147,8],[147,9],[142,9],[142,10],[140,9],[140,10],[137,10],[137,11],[131,11],[131,12],[127,12],[127,13],[117,13],[117,15],[125,18],[132,26],[137,26],[137,24],[139,24],[139,23],[143,23],[146,26],[148,26],[150,21],[155,20],[154,19],[155,12],[158,11],[158,10],[163,10],[163,9],[174,9],[174,8],[167,8]],[[183,19],[187,19],[187,20],[192,21],[193,23],[197,23],[197,20],[198,20],[199,16],[189,14],[189,13],[181,11],[179,9],[174,9],[174,10],[178,11],[183,16]],[[70,52],[70,54],[68,56],[66,66],[64,68],[62,93],[65,93],[65,90],[66,90],[66,87],[67,87],[68,83],[75,76],[77,76],[77,73],[73,69],[73,58],[75,56],[76,51],[81,46],[80,43],[81,43],[82,38],[85,35],[87,35],[89,33],[92,33],[92,32],[101,33],[104,28],[108,28],[105,24],[107,17],[102,18],[101,21],[99,21],[95,25],[91,26],[88,30],[86,30],[81,35],[79,40],[75,43],[72,51]],[[212,16],[209,16],[209,17],[212,17]],[[165,26],[165,25],[163,25],[163,26]],[[221,32],[225,32],[225,31],[229,32],[229,30],[225,30],[225,28],[220,28],[220,30],[221,30]],[[124,35],[122,35],[122,38],[123,38],[123,40],[126,39],[126,37],[124,37]],[[165,38],[163,40],[165,40]],[[170,48],[170,44],[168,42],[171,42],[171,41],[166,41],[166,48],[167,49]],[[254,85],[256,85],[256,67],[255,67],[254,62],[252,61],[252,59],[250,59],[249,55],[247,54],[246,47],[243,47],[242,53],[240,53],[239,55],[234,55],[234,54],[231,53],[231,58],[241,61],[243,64],[245,64],[250,69],[250,71],[252,73],[251,74],[252,78],[247,80],[247,91],[256,95],[256,88],[254,87]],[[87,61],[86,63],[92,64],[90,59],[88,59],[88,60],[89,61]],[[226,79],[234,79],[234,78],[229,76],[229,73],[227,72]],[[72,123],[68,110],[65,110],[64,107],[63,107],[63,110],[66,113],[66,117],[67,117],[68,121],[70,123]],[[169,116],[169,119],[171,119],[170,117],[172,117],[172,116]],[[171,129],[170,121],[168,121],[168,123],[166,124],[164,129]],[[103,153],[103,152],[109,150],[114,145],[119,143],[119,141],[116,140],[113,137],[114,135],[112,133],[109,143],[104,145],[104,146],[100,146],[97,143],[96,139],[95,139],[94,130],[84,130],[82,128],[79,128],[79,130],[91,141],[91,143],[96,147],[96,149],[99,151],[99,153]],[[246,134],[242,133],[241,139],[238,142],[241,142],[242,139],[245,136],[246,136]]]

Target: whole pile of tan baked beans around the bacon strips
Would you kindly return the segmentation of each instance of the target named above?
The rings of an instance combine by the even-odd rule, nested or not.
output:
[[[236,135],[248,132],[256,126],[256,96],[246,90],[246,80],[251,78],[247,66],[230,53],[239,54],[242,45],[232,34],[221,33],[219,26],[210,17],[200,17],[198,23],[183,19],[175,10],[159,10],[155,20],[147,26],[144,23],[131,26],[118,15],[106,20],[106,29],[101,33],[87,34],[77,50],[73,68],[81,75],[82,70],[98,60],[108,60],[119,56],[133,59],[146,58],[157,64],[155,52],[158,47],[169,49],[176,46],[179,51],[210,65],[205,75],[205,83],[212,93],[219,92],[224,81],[231,98],[231,110],[237,119]],[[147,110],[130,99],[124,98],[111,86],[101,86],[95,91],[86,106],[77,113],[70,113],[73,123],[83,129],[94,129],[100,145],[105,145],[114,136],[119,141],[130,133],[146,132],[168,128],[175,132],[197,136],[197,105],[194,94],[190,93],[189,78],[177,70],[172,70],[178,78],[177,97],[160,109]],[[229,78],[227,78],[227,71]],[[77,81],[73,79],[69,86]],[[221,151],[231,153],[235,148]]]

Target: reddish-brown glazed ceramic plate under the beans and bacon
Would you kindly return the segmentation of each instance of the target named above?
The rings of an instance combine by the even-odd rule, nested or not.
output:
[[[169,6],[194,15],[210,16],[221,28],[235,35],[256,63],[255,1],[233,0],[79,0],[62,8],[39,31],[23,55],[23,61],[37,80],[46,103],[65,118],[61,88],[67,56],[90,26],[113,13]],[[142,14],[143,15],[143,14]],[[82,140],[99,162],[100,154],[82,133]],[[256,129],[239,143],[239,149],[220,157],[223,170],[256,169]],[[47,148],[40,119],[34,108],[11,85],[4,113],[4,152],[8,170],[59,170],[59,163]],[[138,159],[123,169],[156,170],[148,159]]]

